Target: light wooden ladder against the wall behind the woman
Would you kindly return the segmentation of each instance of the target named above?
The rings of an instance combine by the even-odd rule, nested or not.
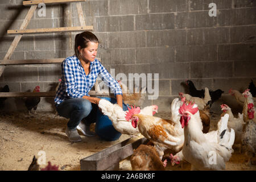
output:
[[[19,30],[7,30],[7,34],[18,34],[15,36],[13,43],[11,43],[10,48],[8,49],[3,60],[0,60],[0,76],[7,65],[15,64],[53,64],[53,63],[62,63],[65,58],[58,59],[30,59],[30,60],[10,60],[11,55],[15,48],[18,46],[20,39],[23,34],[40,34],[40,33],[49,33],[49,32],[71,32],[71,31],[85,31],[93,30],[93,26],[86,26],[84,14],[82,13],[81,2],[86,0],[34,0],[34,1],[23,1],[24,6],[31,6],[28,10],[28,13],[23,20]],[[34,14],[36,8],[40,3],[45,4],[57,4],[57,3],[71,3],[76,2],[77,12],[79,14],[79,21],[81,26],[79,27],[57,27],[57,28],[32,28],[26,29],[28,23],[30,22],[32,15]],[[0,92],[0,97],[54,97],[55,92]]]

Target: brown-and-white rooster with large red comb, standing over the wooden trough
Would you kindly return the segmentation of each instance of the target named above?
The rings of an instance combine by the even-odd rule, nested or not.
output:
[[[175,127],[174,121],[139,113],[139,107],[131,108],[126,113],[126,120],[131,120],[131,125],[138,128],[144,137],[155,144],[154,147],[158,151],[160,159],[167,148],[176,152],[181,150],[184,136],[183,133],[180,134],[180,123],[177,124],[179,127]]]

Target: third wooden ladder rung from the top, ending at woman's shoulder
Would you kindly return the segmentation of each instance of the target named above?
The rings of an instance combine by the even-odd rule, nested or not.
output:
[[[23,60],[0,60],[0,65],[15,65],[15,64],[54,64],[62,63],[65,58],[56,59],[23,59]]]

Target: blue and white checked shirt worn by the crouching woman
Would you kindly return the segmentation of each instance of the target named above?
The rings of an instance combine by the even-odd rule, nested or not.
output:
[[[79,59],[76,55],[67,57],[61,64],[62,77],[60,86],[56,92],[55,104],[60,104],[64,100],[69,98],[81,98],[82,96],[89,96],[89,91],[92,89],[96,82],[96,78],[100,74],[102,80],[112,89],[115,96],[122,95],[122,89],[118,82],[110,75],[110,73],[104,68],[104,66],[94,59],[90,62],[90,73],[85,74]]]

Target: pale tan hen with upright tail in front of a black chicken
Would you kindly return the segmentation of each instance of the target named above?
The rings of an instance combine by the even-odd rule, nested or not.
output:
[[[185,97],[187,101],[193,102],[198,106],[198,109],[203,110],[204,107],[208,104],[208,102],[211,100],[209,89],[205,87],[204,89],[204,98],[199,97],[192,97],[189,94],[184,94],[182,92],[179,93],[180,98]]]

